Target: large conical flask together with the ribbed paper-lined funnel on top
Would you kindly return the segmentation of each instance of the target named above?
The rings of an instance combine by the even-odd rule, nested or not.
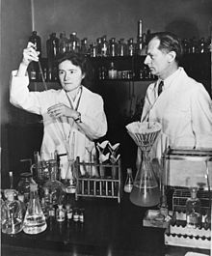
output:
[[[133,122],[126,128],[143,154],[130,193],[130,201],[137,206],[155,206],[160,202],[160,189],[148,154],[161,130],[161,125],[157,122]]]

